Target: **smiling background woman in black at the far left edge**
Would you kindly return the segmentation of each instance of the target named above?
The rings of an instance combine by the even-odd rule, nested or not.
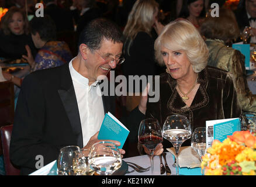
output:
[[[26,45],[30,47],[32,56],[36,55],[25,12],[15,6],[11,7],[2,17],[0,25],[0,57],[22,58],[27,53]]]

